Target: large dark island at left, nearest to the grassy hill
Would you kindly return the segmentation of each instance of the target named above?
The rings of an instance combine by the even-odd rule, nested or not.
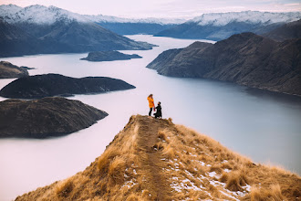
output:
[[[47,138],[88,128],[105,111],[65,98],[0,102],[0,138]]]

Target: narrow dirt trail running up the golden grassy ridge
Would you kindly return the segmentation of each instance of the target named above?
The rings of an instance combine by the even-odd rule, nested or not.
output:
[[[153,195],[155,200],[171,200],[171,186],[168,178],[162,173],[162,168],[165,166],[161,160],[163,156],[161,151],[153,148],[158,143],[158,131],[162,128],[162,122],[150,117],[140,118],[138,147],[142,150],[143,155],[140,155],[140,159],[150,192],[155,194]]]

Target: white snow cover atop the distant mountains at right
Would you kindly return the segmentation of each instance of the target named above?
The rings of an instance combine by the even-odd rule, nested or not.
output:
[[[288,23],[301,18],[301,12],[269,13],[259,11],[244,11],[230,13],[203,14],[194,17],[187,23],[197,23],[199,26],[225,26],[232,22],[246,22],[249,24]]]

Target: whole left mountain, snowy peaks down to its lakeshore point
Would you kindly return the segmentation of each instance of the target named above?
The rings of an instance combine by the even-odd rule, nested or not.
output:
[[[0,57],[152,48],[55,6],[0,5],[0,17]]]

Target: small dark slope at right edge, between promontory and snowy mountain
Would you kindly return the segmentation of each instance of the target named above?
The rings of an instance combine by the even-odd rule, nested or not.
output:
[[[265,33],[263,36],[270,37],[276,41],[301,38],[301,19],[275,28],[274,30]]]

